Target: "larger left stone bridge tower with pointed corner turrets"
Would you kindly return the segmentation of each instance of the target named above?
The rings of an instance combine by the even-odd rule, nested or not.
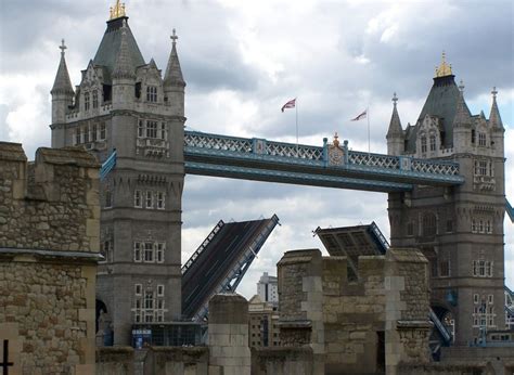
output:
[[[72,88],[64,41],[52,88],[52,146],[82,145],[116,168],[101,183],[97,298],[112,320],[114,344],[133,323],[181,313],[181,195],[184,87],[177,36],[164,79],[145,63],[119,1],[80,85]]]

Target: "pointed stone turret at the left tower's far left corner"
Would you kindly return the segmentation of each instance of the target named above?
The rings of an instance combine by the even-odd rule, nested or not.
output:
[[[57,74],[55,75],[55,81],[53,82],[52,90],[52,129],[56,129],[57,125],[66,121],[66,114],[68,107],[73,104],[73,98],[75,92],[72,87],[72,80],[69,79],[68,68],[66,66],[66,59],[64,56],[64,39],[62,40],[61,49],[61,62],[59,63]],[[55,134],[54,134],[55,133]],[[59,137],[57,137],[59,133]],[[62,138],[64,133],[62,131],[52,132],[52,145],[62,147],[64,140]],[[57,140],[59,138],[59,140]]]

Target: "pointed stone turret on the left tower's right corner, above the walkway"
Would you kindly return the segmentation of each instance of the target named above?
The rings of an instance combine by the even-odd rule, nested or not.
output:
[[[179,56],[177,54],[177,34],[172,31],[171,52],[168,59],[168,65],[164,76],[164,94],[165,101],[172,107],[174,115],[184,115],[184,88],[185,81],[180,68]]]

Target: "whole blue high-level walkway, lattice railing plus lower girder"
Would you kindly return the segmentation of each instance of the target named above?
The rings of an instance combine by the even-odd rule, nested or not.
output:
[[[185,172],[237,178],[234,169],[227,167],[244,167],[262,171],[249,173],[254,180],[262,177],[264,181],[301,184],[299,180],[270,178],[277,172],[283,176],[293,172],[305,174],[307,180],[303,184],[383,192],[409,191],[414,184],[455,185],[464,182],[464,178],[459,174],[459,164],[453,161],[355,152],[348,150],[348,142],[345,141],[343,161],[334,165],[329,160],[330,147],[326,139],[323,140],[323,146],[319,147],[185,131]],[[192,166],[194,168],[190,168]],[[334,177],[349,179],[349,184],[345,185],[343,180],[337,184],[327,184],[326,179]],[[359,183],[356,183],[357,180]],[[402,184],[402,188],[398,189],[398,184]]]

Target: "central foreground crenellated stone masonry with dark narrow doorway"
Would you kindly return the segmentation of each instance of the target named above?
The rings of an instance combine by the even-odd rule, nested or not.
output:
[[[395,374],[398,363],[427,363],[427,261],[416,249],[359,258],[318,249],[285,253],[278,263],[281,340],[312,348],[314,374]]]

